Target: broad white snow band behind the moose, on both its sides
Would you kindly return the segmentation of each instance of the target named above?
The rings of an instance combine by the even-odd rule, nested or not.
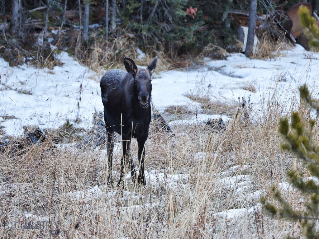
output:
[[[22,126],[26,125],[57,128],[66,120],[88,128],[93,113],[103,110],[98,74],[65,52],[58,58],[63,65],[52,70],[27,65],[10,67],[0,58],[0,126],[7,134],[23,134]],[[196,70],[157,72],[152,80],[155,107],[160,111],[171,105],[199,107],[199,103],[185,97],[191,92],[232,104],[238,98],[250,98],[254,110],[262,112],[274,100],[274,92],[275,100],[288,103],[302,83],[318,92],[319,54],[305,51],[300,45],[278,52],[270,60],[231,54],[227,60],[205,59],[205,63]],[[255,88],[255,92],[249,88]]]

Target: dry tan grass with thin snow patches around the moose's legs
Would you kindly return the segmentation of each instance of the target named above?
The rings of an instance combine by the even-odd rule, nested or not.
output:
[[[189,114],[187,109],[184,112]],[[106,186],[102,148],[52,149],[42,144],[16,155],[2,152],[1,221],[50,220],[58,223],[56,238],[301,236],[299,224],[268,217],[260,209],[260,195],[272,200],[271,185],[287,182],[288,170],[305,170],[293,156],[279,150],[280,110],[268,112],[271,117],[266,115],[262,123],[244,123],[237,117],[219,133],[202,124],[182,123],[174,126],[174,134],[151,130],[145,169],[153,179],[140,188],[128,177],[124,191]],[[137,165],[135,140],[131,150]],[[115,150],[117,172],[120,158],[121,150]],[[283,194],[294,206],[303,206],[298,192],[283,190]],[[223,216],[229,210],[245,211]],[[2,226],[1,230],[6,238],[49,236],[46,228],[4,230]]]

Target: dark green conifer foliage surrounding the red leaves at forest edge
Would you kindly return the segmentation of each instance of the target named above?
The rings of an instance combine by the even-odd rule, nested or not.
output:
[[[138,47],[142,50],[147,46],[171,56],[198,54],[210,43],[224,48],[235,42],[236,26],[224,30],[226,20],[222,18],[226,9],[246,5],[245,1],[239,3],[234,5],[222,0],[119,1],[121,27],[137,33]],[[197,9],[196,15],[187,14],[190,7]]]

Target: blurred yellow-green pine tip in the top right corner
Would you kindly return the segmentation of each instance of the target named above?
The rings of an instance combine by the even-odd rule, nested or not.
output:
[[[303,33],[306,35],[308,39],[308,45],[310,47],[319,49],[319,29],[316,25],[316,19],[311,17],[309,14],[309,10],[306,6],[301,6],[298,10],[298,15],[300,19],[300,24],[305,29]]]

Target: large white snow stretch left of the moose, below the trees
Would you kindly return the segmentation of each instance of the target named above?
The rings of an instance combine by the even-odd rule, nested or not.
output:
[[[57,128],[66,120],[75,127],[87,128],[95,109],[103,110],[96,73],[66,52],[57,57],[63,66],[52,70],[27,65],[9,67],[0,61],[0,74],[7,75],[0,84],[0,116],[16,118],[2,123],[7,134],[23,134],[25,125]],[[75,122],[77,118],[80,123]]]

